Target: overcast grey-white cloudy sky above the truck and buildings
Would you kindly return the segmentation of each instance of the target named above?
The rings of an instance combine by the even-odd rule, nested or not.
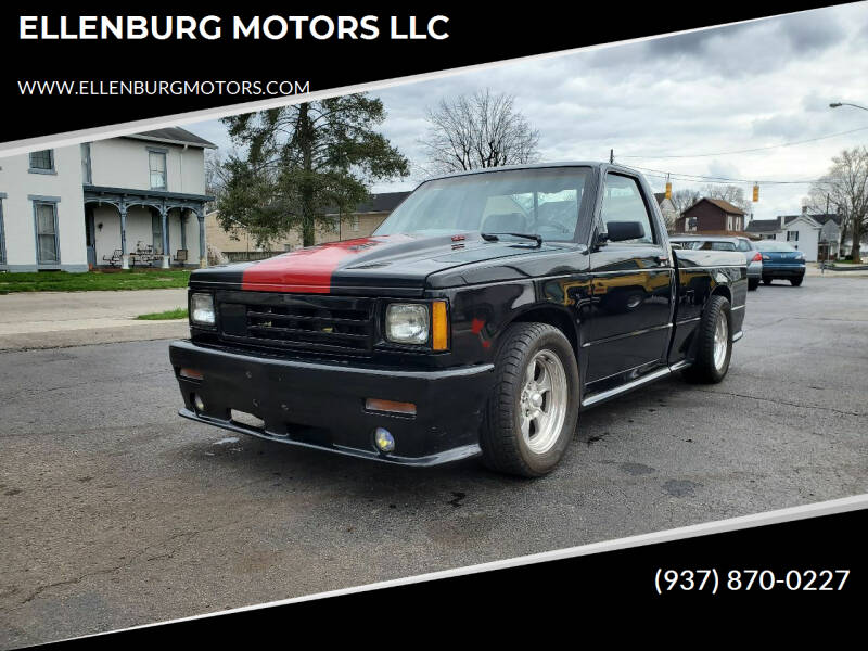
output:
[[[663,10],[662,10],[663,11]],[[386,71],[387,72],[387,71]],[[613,44],[482,72],[407,84],[374,92],[386,107],[385,136],[422,163],[418,139],[427,106],[442,98],[490,88],[515,97],[515,106],[540,132],[540,159],[615,159],[673,174],[760,181],[754,218],[801,209],[808,184],[844,148],[868,144],[868,2],[820,9],[731,27]],[[661,155],[719,153],[863,131],[768,151],[689,158]],[[219,122],[192,131],[231,146]],[[628,156],[649,156],[634,158]],[[653,174],[653,173],[651,173]],[[376,186],[411,189],[420,180]],[[655,190],[664,180],[649,176]],[[673,189],[689,187],[673,181]],[[742,184],[750,196],[751,184]]]

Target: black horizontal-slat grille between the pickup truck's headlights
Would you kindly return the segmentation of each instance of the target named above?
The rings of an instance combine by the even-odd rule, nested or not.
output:
[[[220,292],[220,337],[272,348],[369,353],[373,298]]]

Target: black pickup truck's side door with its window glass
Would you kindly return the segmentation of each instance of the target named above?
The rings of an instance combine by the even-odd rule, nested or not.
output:
[[[642,237],[595,244],[590,254],[591,308],[583,346],[586,383],[628,372],[638,375],[665,361],[672,328],[673,261],[642,184],[607,173],[596,228],[635,221]]]

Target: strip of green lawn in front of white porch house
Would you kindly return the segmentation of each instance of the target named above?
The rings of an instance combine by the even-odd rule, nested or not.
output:
[[[156,290],[186,288],[190,271],[186,269],[130,269],[125,271],[37,271],[0,273],[0,294],[9,292],[87,292],[113,290]]]

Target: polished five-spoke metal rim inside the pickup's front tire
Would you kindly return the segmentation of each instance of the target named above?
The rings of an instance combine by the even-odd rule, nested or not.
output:
[[[566,418],[566,372],[551,350],[539,350],[524,373],[519,396],[522,436],[532,452],[542,455],[558,441]]]

